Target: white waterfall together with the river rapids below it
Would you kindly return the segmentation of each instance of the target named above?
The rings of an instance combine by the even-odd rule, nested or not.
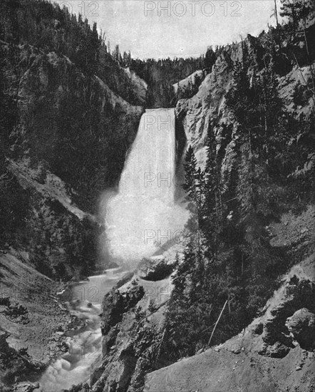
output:
[[[162,244],[175,241],[187,221],[187,210],[175,200],[174,109],[147,110],[120,178],[119,192],[105,195],[106,246],[116,262],[135,266]],[[101,359],[100,304],[124,272],[90,277],[73,287],[68,309],[85,321],[68,331],[69,350],[48,366],[41,392],[56,392],[87,381]]]

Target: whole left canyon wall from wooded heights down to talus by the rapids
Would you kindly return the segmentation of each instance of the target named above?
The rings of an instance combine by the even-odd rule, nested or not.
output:
[[[1,13],[8,4],[1,4]],[[14,19],[16,9],[11,11]],[[14,41],[5,20],[1,38],[7,35],[8,41],[0,41],[0,376],[8,387],[1,383],[0,388],[11,391],[9,385],[36,378],[66,351],[63,332],[77,320],[56,293],[64,288],[60,280],[95,272],[103,232],[98,202],[106,187],[118,184],[147,86],[111,59],[110,70],[95,76],[62,51],[32,45],[31,39]],[[14,29],[21,32],[20,26]]]

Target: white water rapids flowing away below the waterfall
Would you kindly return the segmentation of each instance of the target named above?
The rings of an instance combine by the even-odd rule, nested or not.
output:
[[[38,380],[41,392],[60,392],[88,381],[93,368],[101,360],[100,308],[103,297],[125,272],[108,270],[103,275],[89,277],[87,282],[71,289],[67,306],[71,314],[85,326],[66,332],[68,352],[51,363]],[[36,391],[38,391],[36,389]]]

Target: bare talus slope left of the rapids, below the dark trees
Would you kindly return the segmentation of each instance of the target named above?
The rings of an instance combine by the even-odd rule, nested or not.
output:
[[[58,302],[63,285],[36,271],[27,252],[1,252],[0,277],[0,376],[12,383],[66,351],[63,331],[77,321]]]

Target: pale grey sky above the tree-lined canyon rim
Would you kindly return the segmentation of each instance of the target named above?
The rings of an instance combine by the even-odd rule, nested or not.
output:
[[[276,24],[274,0],[58,0],[133,58],[199,56]],[[278,12],[280,1],[277,0]]]

